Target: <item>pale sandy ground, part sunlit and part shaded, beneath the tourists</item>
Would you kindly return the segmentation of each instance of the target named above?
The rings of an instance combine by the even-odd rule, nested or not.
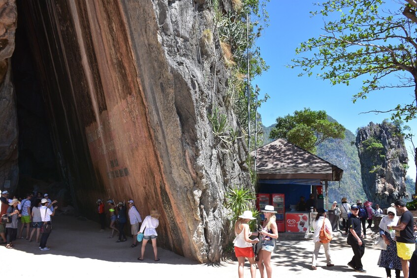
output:
[[[221,264],[198,264],[173,252],[158,248],[159,262],[155,262],[151,244],[145,251],[145,260],[138,261],[140,245],[130,248],[132,238],[124,243],[115,243],[117,238],[107,239],[109,229],[99,232],[99,225],[93,221],[77,220],[70,216],[54,216],[54,230],[48,239],[49,251],[40,251],[38,244],[27,240],[14,242],[14,249],[0,246],[2,258],[1,277],[40,277],[41,271],[48,276],[66,277],[181,277],[181,278],[232,278],[237,276],[236,262]],[[26,230],[24,230],[24,233]],[[313,242],[278,241],[278,253],[272,254],[273,277],[322,278],[381,278],[385,269],[377,266],[380,251],[371,247],[372,240],[365,240],[367,248],[362,258],[366,274],[354,272],[347,267],[353,256],[346,237],[331,242],[331,257],[334,267],[328,268],[324,251],[318,260],[318,269],[310,270]],[[5,276],[3,276],[5,275]],[[250,277],[246,264],[245,277]],[[260,277],[257,272],[257,277]],[[266,276],[265,276],[266,277]],[[392,271],[392,277],[395,277]]]

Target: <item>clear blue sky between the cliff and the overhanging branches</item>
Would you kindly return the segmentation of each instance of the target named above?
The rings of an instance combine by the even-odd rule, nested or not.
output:
[[[388,0],[390,2],[390,0]],[[399,8],[392,2],[391,7]],[[381,123],[390,118],[390,114],[360,114],[370,110],[388,110],[397,104],[410,103],[413,90],[387,89],[373,92],[365,100],[353,104],[352,96],[359,92],[361,79],[350,86],[331,86],[329,81],[316,77],[298,77],[300,68],[291,69],[286,65],[295,58],[295,49],[301,42],[323,33],[324,26],[321,16],[311,17],[310,11],[317,7],[310,0],[294,5],[293,1],[271,0],[267,4],[270,26],[257,39],[257,46],[270,66],[262,76],[255,78],[252,85],[258,85],[260,95],[267,93],[270,99],[258,109],[265,126],[275,124],[277,117],[292,114],[295,110],[309,107],[312,110],[325,110],[329,116],[355,133],[358,127],[370,122]],[[417,121],[406,123],[417,133]],[[406,143],[409,149],[409,143]],[[416,166],[409,155],[410,168],[408,175],[415,179]]]

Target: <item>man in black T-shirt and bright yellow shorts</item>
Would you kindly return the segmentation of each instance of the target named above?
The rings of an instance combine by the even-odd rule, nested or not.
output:
[[[395,201],[394,205],[395,209],[401,212],[402,215],[400,217],[400,224],[392,226],[391,228],[400,231],[399,235],[395,232],[397,239],[397,255],[401,259],[404,278],[408,278],[408,262],[416,249],[416,242],[414,241],[414,219],[413,214],[407,209],[403,200]],[[390,227],[388,226],[388,229],[389,228]]]

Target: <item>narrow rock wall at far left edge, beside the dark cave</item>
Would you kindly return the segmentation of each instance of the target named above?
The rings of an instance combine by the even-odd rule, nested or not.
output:
[[[14,0],[0,1],[0,189],[18,183],[16,103],[10,57],[14,50],[17,9]]]

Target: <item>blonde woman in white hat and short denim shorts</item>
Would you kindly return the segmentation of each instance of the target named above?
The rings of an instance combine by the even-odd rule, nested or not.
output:
[[[266,276],[272,278],[272,267],[271,267],[271,253],[274,250],[275,243],[274,239],[278,238],[278,228],[274,207],[267,205],[265,209],[261,211],[265,220],[263,221],[262,230],[260,234],[262,235],[262,248],[259,251],[259,261],[257,266],[259,268],[260,277],[263,278],[264,269],[266,269]]]

